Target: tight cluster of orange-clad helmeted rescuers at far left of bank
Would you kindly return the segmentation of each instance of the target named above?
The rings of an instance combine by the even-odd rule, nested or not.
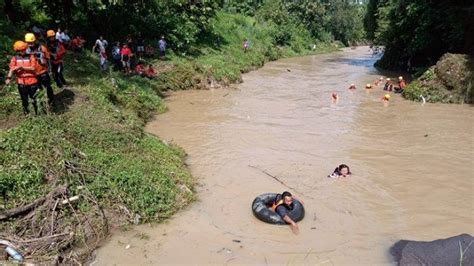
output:
[[[77,40],[80,40],[79,36]],[[30,99],[35,114],[38,114],[36,100],[38,90],[46,89],[48,104],[54,104],[50,73],[58,88],[67,85],[63,76],[63,58],[70,42],[71,39],[67,31],[61,32],[59,29],[58,32],[48,30],[45,35],[41,31],[28,32],[25,34],[24,40],[18,40],[13,44],[15,55],[10,59],[5,84],[10,84],[13,75],[15,75],[24,114],[30,112]],[[83,44],[78,41],[78,44],[81,43]]]

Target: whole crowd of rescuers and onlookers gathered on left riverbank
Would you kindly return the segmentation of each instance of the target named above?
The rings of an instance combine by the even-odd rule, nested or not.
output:
[[[14,42],[14,55],[10,59],[5,84],[9,85],[13,76],[15,77],[25,115],[30,113],[30,101],[34,113],[38,114],[37,97],[42,89],[45,89],[47,94],[46,107],[55,104],[51,76],[59,89],[64,88],[68,84],[63,74],[64,56],[68,50],[73,51],[77,62],[77,56],[83,51],[85,43],[82,36],[71,36],[67,29],[44,31],[36,26],[24,35],[23,40]],[[92,46],[92,52],[99,56],[100,70],[103,72],[108,69],[107,47],[108,42],[103,36]],[[161,59],[165,58],[166,47],[164,36],[161,36],[158,41]],[[154,51],[153,46],[145,46],[140,33],[135,41],[128,36],[123,43],[116,42],[110,52],[117,71],[153,79],[156,71],[151,64],[146,64],[143,58],[152,57]]]

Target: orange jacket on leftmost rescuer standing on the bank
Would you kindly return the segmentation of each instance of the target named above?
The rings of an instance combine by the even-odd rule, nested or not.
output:
[[[17,69],[18,67],[34,67],[35,70]],[[38,71],[38,63],[34,55],[14,56],[10,60],[10,69],[16,76],[16,83],[19,85],[33,85],[38,83],[36,72]]]

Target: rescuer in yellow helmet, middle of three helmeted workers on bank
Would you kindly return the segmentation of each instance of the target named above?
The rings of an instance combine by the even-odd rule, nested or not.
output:
[[[41,86],[46,88],[49,104],[53,104],[54,93],[51,86],[51,78],[49,77],[49,51],[46,46],[39,44],[36,41],[36,36],[33,33],[25,34],[25,42],[28,44],[26,54],[34,55],[38,63],[37,78]]]

